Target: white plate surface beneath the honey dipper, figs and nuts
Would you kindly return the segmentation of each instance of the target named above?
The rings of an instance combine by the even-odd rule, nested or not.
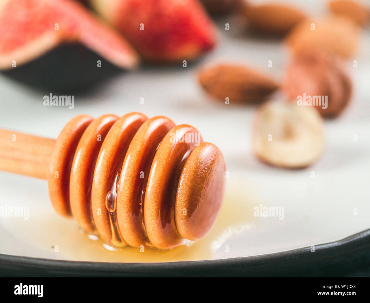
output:
[[[223,30],[226,22],[231,25],[230,31]],[[207,239],[206,253],[178,250],[171,257],[148,257],[150,262],[252,256],[330,242],[368,229],[369,29],[363,34],[361,51],[351,59],[358,61],[358,67],[354,68],[351,60],[348,63],[354,83],[353,100],[341,117],[326,121],[322,158],[307,169],[290,171],[266,166],[254,157],[251,131],[255,107],[215,102],[202,92],[195,77],[199,64],[226,60],[255,66],[279,79],[287,52],[278,40],[243,36],[235,18],[225,18],[218,25],[219,47],[201,62],[187,68],[179,64],[122,73],[95,91],[75,95],[73,110],[45,107],[44,93],[0,75],[0,127],[56,138],[64,124],[78,114],[98,117],[139,111],[148,117],[166,115],[177,124],[194,125],[205,141],[216,144],[230,174],[225,205],[233,210],[224,213],[225,220],[232,224],[217,223]],[[269,60],[273,61],[272,68],[267,67]],[[143,105],[140,98],[144,98]],[[311,178],[311,172],[315,178]],[[260,204],[284,207],[284,219],[253,216],[253,208]],[[64,260],[137,260],[137,256],[122,259],[117,252],[96,248],[89,244],[93,240],[85,241],[85,235],[73,236],[78,228],[75,222],[54,213],[46,181],[0,172],[0,206],[5,205],[28,206],[30,216],[28,220],[0,218],[0,253]],[[88,248],[94,246],[97,252],[89,254],[81,243]],[[214,255],[209,254],[212,249]]]

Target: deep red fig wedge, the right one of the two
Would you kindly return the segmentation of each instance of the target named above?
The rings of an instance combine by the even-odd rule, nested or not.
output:
[[[195,0],[91,0],[91,4],[147,61],[192,60],[216,43],[215,26]]]

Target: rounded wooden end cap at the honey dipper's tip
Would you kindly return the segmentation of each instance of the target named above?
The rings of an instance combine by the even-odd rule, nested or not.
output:
[[[183,238],[197,240],[211,229],[224,182],[225,162],[219,149],[206,142],[195,147],[182,169],[176,195],[175,220]]]

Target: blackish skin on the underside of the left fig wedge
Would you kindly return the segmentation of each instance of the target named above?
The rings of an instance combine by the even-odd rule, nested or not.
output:
[[[70,94],[88,91],[123,72],[82,44],[68,43],[1,74],[45,93]]]

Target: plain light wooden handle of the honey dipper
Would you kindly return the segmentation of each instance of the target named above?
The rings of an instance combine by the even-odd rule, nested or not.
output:
[[[46,179],[54,139],[0,129],[0,170]]]

